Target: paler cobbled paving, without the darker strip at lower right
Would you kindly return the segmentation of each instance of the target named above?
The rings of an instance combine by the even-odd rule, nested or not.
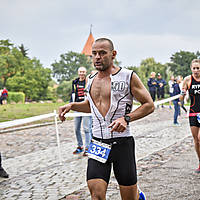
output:
[[[172,119],[172,110],[164,108],[131,123],[138,163],[148,163],[153,153],[187,140],[188,119],[182,116],[180,127],[173,126]],[[85,181],[87,158],[72,155],[76,147],[73,130],[73,120],[59,124],[62,165],[53,125],[0,134],[3,165],[10,174],[9,179],[0,179],[0,199],[56,200],[72,194],[79,194],[79,199],[90,199]],[[138,173],[143,170],[139,167]],[[108,199],[120,199],[116,188],[112,177]]]

